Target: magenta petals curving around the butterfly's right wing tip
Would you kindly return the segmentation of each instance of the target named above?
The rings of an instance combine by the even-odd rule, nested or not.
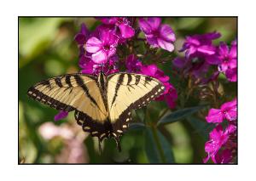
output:
[[[166,87],[164,93],[160,95],[157,100],[166,100],[167,105],[173,109],[176,104],[175,101],[177,100],[177,91],[169,82],[170,77],[166,76],[163,71],[161,71],[156,65],[143,65],[141,67],[141,73],[147,76],[153,76],[160,80]]]

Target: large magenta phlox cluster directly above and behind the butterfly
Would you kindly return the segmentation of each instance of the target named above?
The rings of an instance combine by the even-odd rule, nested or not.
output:
[[[166,100],[167,105],[174,108],[177,91],[169,82],[170,77],[166,76],[156,63],[148,65],[147,60],[143,63],[137,59],[133,51],[125,54],[125,59],[120,59],[118,54],[125,46],[129,51],[133,48],[129,42],[136,41],[140,31],[146,37],[145,43],[152,48],[162,48],[172,52],[176,37],[170,25],[161,24],[160,18],[140,18],[138,26],[134,18],[111,17],[97,18],[97,20],[102,24],[98,25],[94,31],[89,31],[86,25],[82,24],[74,38],[79,45],[81,72],[96,76],[100,71],[109,75],[125,69],[127,72],[153,76],[163,82],[166,87],[166,92],[157,100]],[[55,121],[66,117],[67,114],[66,111],[60,111],[55,116]]]

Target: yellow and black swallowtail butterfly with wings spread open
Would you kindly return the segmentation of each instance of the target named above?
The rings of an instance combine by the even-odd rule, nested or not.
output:
[[[105,76],[81,73],[55,76],[29,88],[32,99],[56,110],[73,111],[84,132],[99,139],[113,138],[120,151],[119,137],[131,122],[131,110],[139,109],[165,91],[156,78],[119,72]],[[100,147],[101,150],[101,147]]]

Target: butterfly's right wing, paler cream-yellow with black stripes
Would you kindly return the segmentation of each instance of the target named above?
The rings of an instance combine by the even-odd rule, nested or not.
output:
[[[131,121],[131,110],[147,105],[163,93],[163,84],[151,76],[117,73],[108,76],[108,119],[122,133]]]

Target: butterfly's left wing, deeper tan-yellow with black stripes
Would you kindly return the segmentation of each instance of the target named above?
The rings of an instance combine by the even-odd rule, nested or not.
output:
[[[84,131],[100,136],[108,120],[106,103],[96,78],[84,74],[55,76],[29,88],[28,95],[56,110],[75,110],[75,118]],[[99,128],[100,127],[100,128]],[[103,127],[103,128],[101,128]]]

